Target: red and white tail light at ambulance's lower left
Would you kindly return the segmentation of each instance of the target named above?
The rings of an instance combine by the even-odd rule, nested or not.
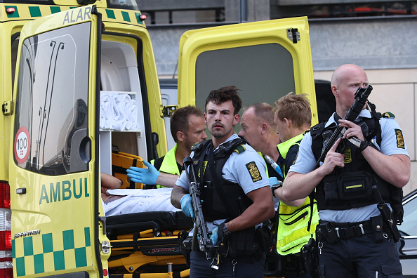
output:
[[[0,182],[0,277],[13,277],[10,185]]]

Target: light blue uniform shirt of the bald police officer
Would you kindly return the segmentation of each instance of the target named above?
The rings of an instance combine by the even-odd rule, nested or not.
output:
[[[326,123],[326,127],[331,124],[336,124],[334,115],[330,117]],[[369,110],[362,110],[359,117],[371,118],[371,112]],[[394,118],[380,118],[380,129],[381,129],[381,142],[380,146],[376,144],[376,138],[371,141],[378,147],[378,150],[385,155],[392,154],[405,154],[409,157],[404,140],[402,140],[401,128]],[[398,133],[401,134],[399,138]],[[300,149],[298,151],[298,157],[296,163],[291,166],[289,172],[296,173],[310,173],[316,164],[316,159],[311,149],[312,138],[310,133],[305,134],[303,140],[300,143]],[[322,163],[321,163],[322,164]],[[373,216],[379,216],[380,212],[376,208],[376,204],[369,206],[363,206],[361,208],[347,209],[344,211],[333,211],[333,210],[322,210],[319,211],[319,218],[321,220],[346,223],[346,222],[361,222],[369,220]]]

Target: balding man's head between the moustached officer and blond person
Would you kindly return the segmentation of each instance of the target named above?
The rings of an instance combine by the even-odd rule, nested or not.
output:
[[[273,161],[279,158],[277,145],[281,143],[277,133],[277,124],[272,117],[272,107],[266,102],[258,102],[244,108],[240,119],[239,137],[248,141],[257,152],[267,154]],[[279,167],[279,166],[278,166]],[[267,176],[284,180],[272,166],[267,163]]]

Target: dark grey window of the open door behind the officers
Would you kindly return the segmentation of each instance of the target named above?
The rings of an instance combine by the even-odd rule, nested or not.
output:
[[[293,57],[280,44],[205,51],[196,61],[196,104],[204,109],[210,91],[234,85],[241,90],[243,106],[255,102],[273,105],[295,92],[294,80]]]

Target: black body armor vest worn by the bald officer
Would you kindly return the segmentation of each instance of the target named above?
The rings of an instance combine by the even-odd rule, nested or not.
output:
[[[362,127],[365,140],[378,145],[380,145],[381,140],[379,115],[376,117],[376,113],[372,113],[371,119],[362,118],[355,121],[355,124]],[[316,159],[320,157],[324,140],[330,138],[336,129],[333,124],[324,128],[324,124],[318,124],[310,129],[312,152]],[[384,201],[391,204],[394,213],[401,214],[402,189],[391,185],[376,175],[362,152],[348,140],[342,141],[344,141],[344,144],[341,147],[339,144],[337,151],[345,154],[345,167],[336,167],[330,175],[324,177],[322,182],[317,185],[315,192],[317,208],[319,210],[345,210],[376,204],[377,201],[373,197],[372,191],[372,186],[376,185]],[[371,147],[376,146],[372,144]],[[397,215],[396,218],[397,222],[401,222],[399,218],[402,218],[402,216]]]

